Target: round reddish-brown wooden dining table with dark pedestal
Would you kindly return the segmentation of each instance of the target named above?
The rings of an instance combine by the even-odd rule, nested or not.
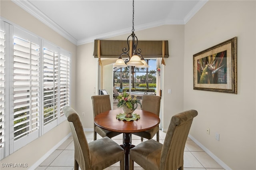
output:
[[[142,132],[154,128],[159,125],[160,119],[158,115],[154,113],[136,109],[134,113],[140,115],[140,119],[136,121],[121,121],[116,119],[116,115],[124,113],[122,109],[115,109],[98,114],[94,118],[96,126],[110,130],[113,132],[124,133],[124,144],[121,146],[124,148],[125,154],[125,169],[129,169],[129,151],[134,147],[131,142],[130,134],[134,132]]]

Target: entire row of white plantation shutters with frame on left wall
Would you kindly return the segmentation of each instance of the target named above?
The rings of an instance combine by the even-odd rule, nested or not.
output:
[[[66,120],[71,54],[0,20],[0,160]]]

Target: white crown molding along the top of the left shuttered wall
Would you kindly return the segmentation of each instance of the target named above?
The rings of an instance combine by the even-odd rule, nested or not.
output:
[[[28,0],[12,0],[12,2],[20,6],[26,12],[30,13],[32,16],[37,18],[42,23],[46,24],[46,26],[50,27],[52,30],[56,31],[58,34],[60,34],[70,42],[77,45],[77,40],[73,36],[68,34],[68,32],[66,32],[63,28],[61,28],[58,24],[53,22],[48,16],[46,16],[44,13],[38,10],[38,8],[36,8],[34,5],[28,2]]]

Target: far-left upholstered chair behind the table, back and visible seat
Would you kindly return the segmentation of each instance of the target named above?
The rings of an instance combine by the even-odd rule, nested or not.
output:
[[[110,95],[92,96],[92,109],[93,109],[94,117],[97,116],[99,113],[110,111],[111,110]],[[108,136],[109,138],[112,138],[114,136],[117,136],[118,134],[121,134],[120,132],[112,132],[94,125],[94,134],[93,134],[94,140],[97,139],[97,133],[102,137]]]

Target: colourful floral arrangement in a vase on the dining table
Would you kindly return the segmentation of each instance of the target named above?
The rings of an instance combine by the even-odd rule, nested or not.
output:
[[[132,98],[130,94],[126,93],[126,91],[123,91],[123,94],[118,95],[116,99],[118,99],[117,107],[123,108],[126,117],[132,117],[132,113],[137,109],[138,104],[141,106],[140,100],[136,99],[136,96]]]

